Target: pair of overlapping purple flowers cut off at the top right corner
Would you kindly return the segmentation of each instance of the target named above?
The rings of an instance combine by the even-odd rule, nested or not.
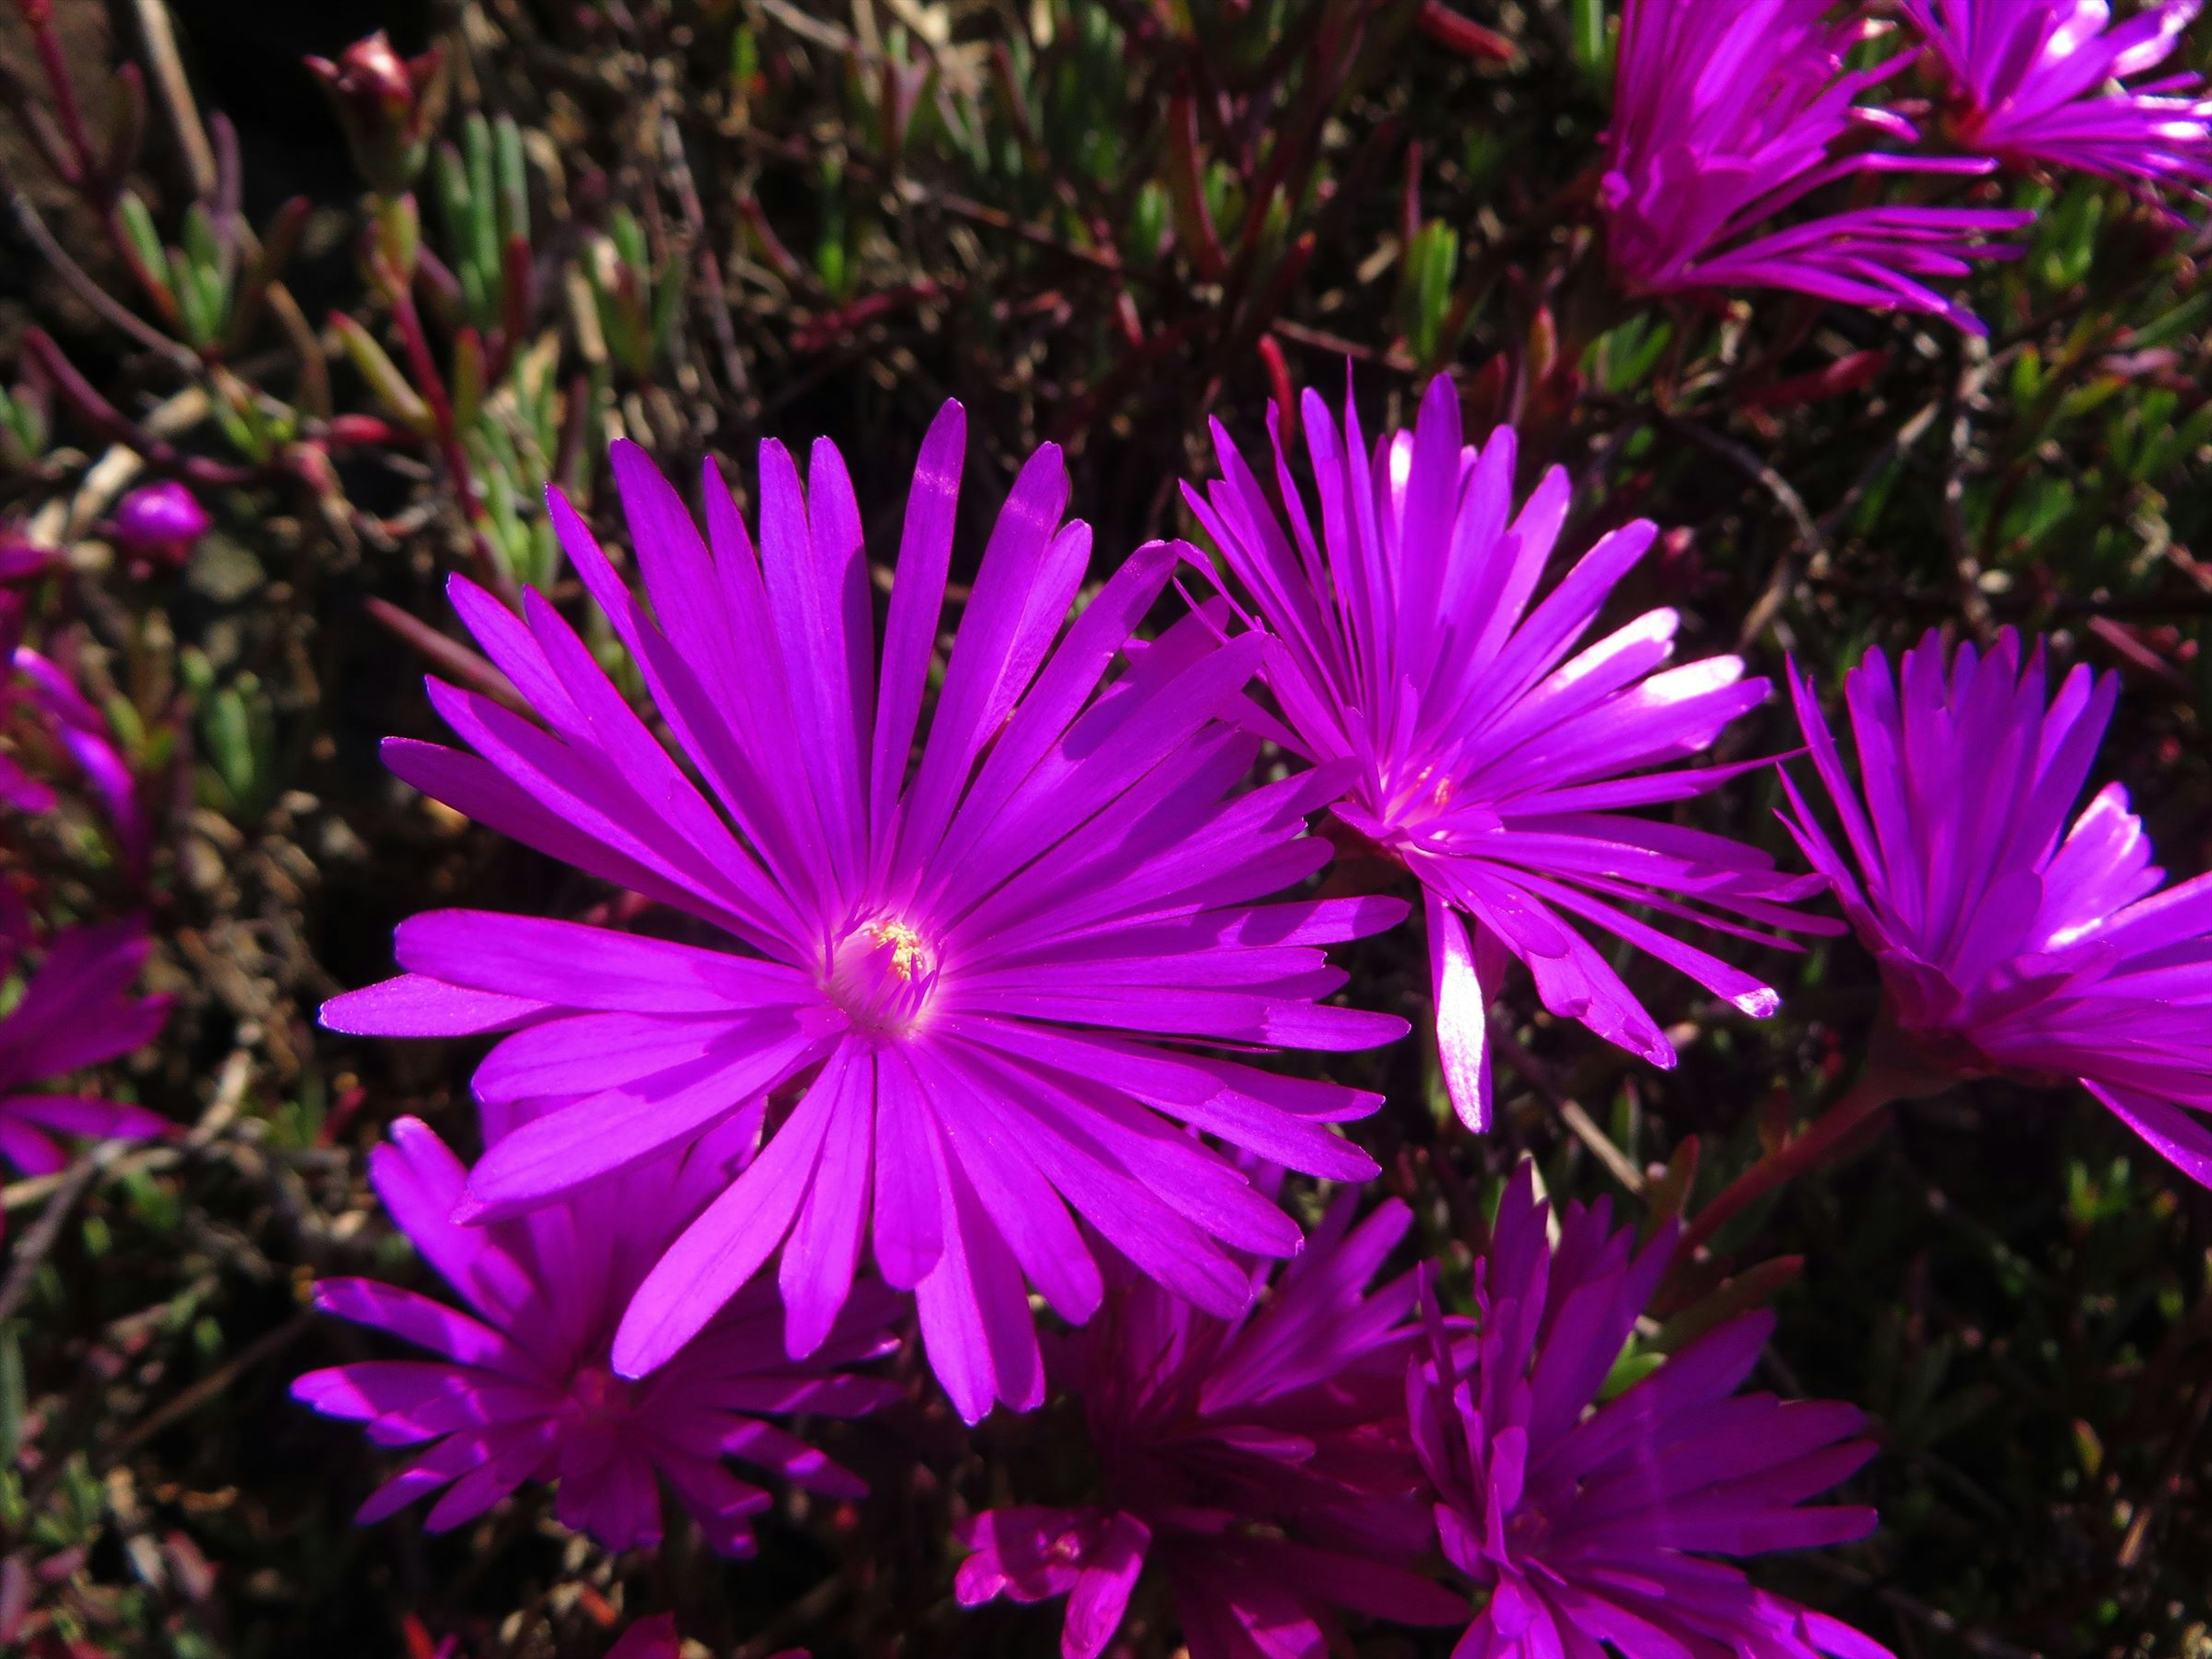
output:
[[[1880,173],[2073,168],[2141,184],[2212,179],[2212,100],[2194,75],[2135,77],[2174,53],[2199,0],[2110,24],[2104,0],[1905,0],[1949,84],[1942,137],[1962,155],[1878,148],[1922,135],[1860,97],[1911,66],[1847,60],[1874,38],[1825,0],[1628,0],[1597,201],[1635,292],[1792,288],[1874,310],[1980,319],[1931,288],[2033,215],[1851,206],[1767,228],[1823,186]],[[2135,84],[2126,84],[2135,82]]]

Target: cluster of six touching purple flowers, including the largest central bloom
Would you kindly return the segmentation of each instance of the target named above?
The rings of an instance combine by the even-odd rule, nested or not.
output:
[[[768,1495],[728,1458],[856,1495],[763,1413],[894,1400],[852,1367],[891,1347],[911,1294],[964,1418],[1062,1394],[1088,1422],[1077,1502],[962,1531],[960,1599],[1068,1597],[1068,1659],[1106,1650],[1148,1573],[1201,1659],[1318,1657],[1345,1615],[1453,1624],[1453,1575],[1475,1590],[1467,1652],[1882,1652],[1714,1559],[1874,1524],[1798,1506],[1869,1455],[1856,1411],[1736,1396],[1767,1316],[1608,1380],[1690,1248],[1674,1223],[1637,1250],[1604,1206],[1568,1206],[1553,1237],[1524,1164],[1473,1323],[1431,1296],[1422,1334],[1411,1274],[1369,1290],[1405,1206],[1354,1225],[1345,1190],[1312,1239],[1279,1206],[1283,1168],[1374,1172],[1336,1126],[1378,1097],[1254,1060],[1405,1031],[1332,1000],[1323,947],[1407,916],[1305,887],[1336,845],[1422,896],[1440,1073],[1471,1128],[1509,964],[1553,1013],[1670,1064],[1582,927],[1765,1015],[1772,989],[1628,907],[1787,947],[1772,929],[1836,931],[1796,909],[1834,889],[1929,1064],[2081,1077],[2212,1177],[2212,1137],[2177,1110],[2212,1102],[2199,885],[2150,898],[2117,792],[2059,838],[2110,684],[2077,670],[2046,712],[2015,641],[1962,650],[1947,681],[1931,639],[1900,703],[1876,655],[1847,679],[1863,807],[1792,672],[1858,874],[1785,781],[1812,863],[1790,876],[1644,812],[1767,765],[1683,765],[1765,686],[1734,657],[1668,666],[1672,611],[1584,644],[1650,524],[1546,591],[1564,476],[1517,500],[1513,431],[1462,442],[1449,380],[1374,447],[1349,405],[1338,422],[1307,394],[1301,425],[1312,504],[1281,442],[1270,493],[1217,427],[1223,476],[1188,502],[1221,593],[1157,630],[1177,564],[1206,555],[1139,549],[1064,626],[1091,546],[1040,451],[942,668],[958,405],[914,476],[880,650],[834,447],[801,482],[763,445],[759,538],[712,469],[701,535],[619,447],[650,611],[557,493],[551,511],[666,741],[549,602],[518,617],[456,580],[538,719],[431,681],[469,752],[394,741],[394,770],[666,920],[431,911],[398,931],[400,978],[325,1009],[341,1031],[495,1037],[480,1161],[409,1119],[372,1164],[469,1312],[319,1292],[436,1356],[299,1383],[420,1447],[363,1517],[442,1489],[429,1526],[451,1526],[540,1480],[562,1520],[630,1548],[659,1537],[664,1480],[741,1553]],[[1270,743],[1287,774],[1259,772]],[[1031,1287],[1068,1334],[1040,1343]]]

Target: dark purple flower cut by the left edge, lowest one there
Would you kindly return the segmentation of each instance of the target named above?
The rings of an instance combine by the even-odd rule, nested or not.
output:
[[[22,1000],[0,1020],[0,1155],[24,1175],[69,1164],[55,1135],[142,1141],[170,1130],[166,1117],[119,1099],[31,1093],[159,1035],[168,998],[131,995],[148,949],[137,920],[55,933]]]

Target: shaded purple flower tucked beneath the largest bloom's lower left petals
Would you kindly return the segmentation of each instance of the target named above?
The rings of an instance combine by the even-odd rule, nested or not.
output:
[[[487,1115],[487,1135],[502,1113]],[[770,1495],[737,1458],[830,1498],[867,1486],[768,1418],[860,1416],[898,1398],[843,1367],[896,1340],[896,1298],[860,1285],[807,1360],[783,1352],[783,1310],[761,1283],[644,1383],[615,1376],[608,1347],[624,1303],[659,1250],[728,1179],[743,1137],[708,1135],[518,1221],[451,1221],[467,1170],[422,1121],[403,1117],[369,1155],[369,1181],[400,1232],[467,1312],[372,1279],[325,1279],[325,1314],[425,1347],[429,1360],[363,1360],[310,1371],[292,1396],[365,1422],[383,1447],[425,1447],[361,1506],[361,1522],[442,1495],[440,1533],[482,1515],[526,1480],[560,1482],[555,1513],[611,1551],[661,1542],[659,1480],[723,1555],[752,1553],[750,1517]]]

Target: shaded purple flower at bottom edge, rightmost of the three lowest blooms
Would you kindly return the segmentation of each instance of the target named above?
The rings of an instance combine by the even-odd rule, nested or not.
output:
[[[1427,1296],[1429,1352],[1407,1369],[1413,1440],[1444,1557],[1480,1613],[1455,1659],[1887,1659],[1887,1648],[1752,1586],[1717,1555],[1865,1537],[1874,1511],[1805,1509],[1874,1442],[1832,1400],[1736,1394],[1774,1329],[1745,1314],[1599,1400],[1674,1252],[1641,1250],[1610,1206],[1571,1203],[1557,1243],[1522,1161],[1475,1265],[1475,1332]]]

